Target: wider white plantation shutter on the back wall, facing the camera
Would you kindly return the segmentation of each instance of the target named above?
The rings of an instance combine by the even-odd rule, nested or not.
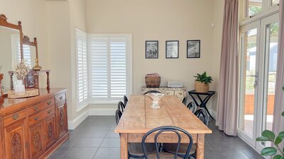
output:
[[[89,56],[93,102],[114,102],[130,93],[130,35],[90,35]]]

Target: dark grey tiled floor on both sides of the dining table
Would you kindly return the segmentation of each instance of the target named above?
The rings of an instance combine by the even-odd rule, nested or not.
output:
[[[119,159],[119,135],[112,116],[91,116],[70,131],[66,141],[48,159]],[[213,134],[205,136],[205,159],[263,159],[238,137],[226,136],[214,122]]]

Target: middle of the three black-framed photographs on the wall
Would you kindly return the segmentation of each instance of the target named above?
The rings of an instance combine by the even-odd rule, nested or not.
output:
[[[178,59],[178,40],[165,41],[165,58]]]

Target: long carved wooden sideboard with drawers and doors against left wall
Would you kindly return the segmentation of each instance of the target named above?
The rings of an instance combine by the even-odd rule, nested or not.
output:
[[[0,158],[48,158],[68,137],[67,89],[0,103]]]

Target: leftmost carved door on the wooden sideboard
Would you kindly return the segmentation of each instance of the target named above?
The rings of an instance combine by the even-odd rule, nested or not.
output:
[[[23,120],[13,123],[13,126],[6,126],[4,136],[6,159],[24,159],[26,141]]]

